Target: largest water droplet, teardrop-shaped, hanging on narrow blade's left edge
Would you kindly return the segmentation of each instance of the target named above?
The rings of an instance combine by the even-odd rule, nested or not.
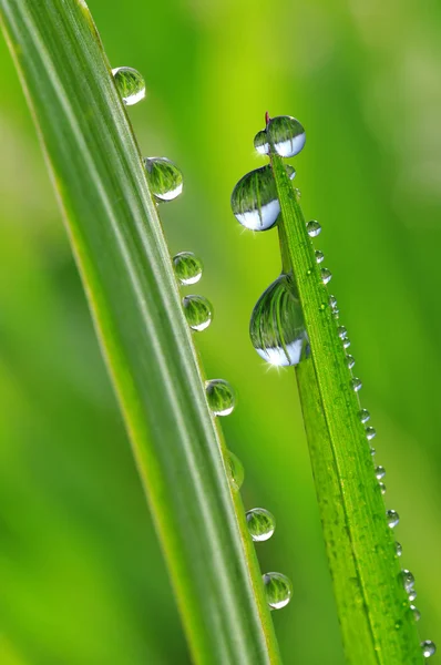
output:
[[[258,299],[249,323],[254,348],[270,365],[298,365],[306,346],[305,321],[290,275],[280,275]]]

